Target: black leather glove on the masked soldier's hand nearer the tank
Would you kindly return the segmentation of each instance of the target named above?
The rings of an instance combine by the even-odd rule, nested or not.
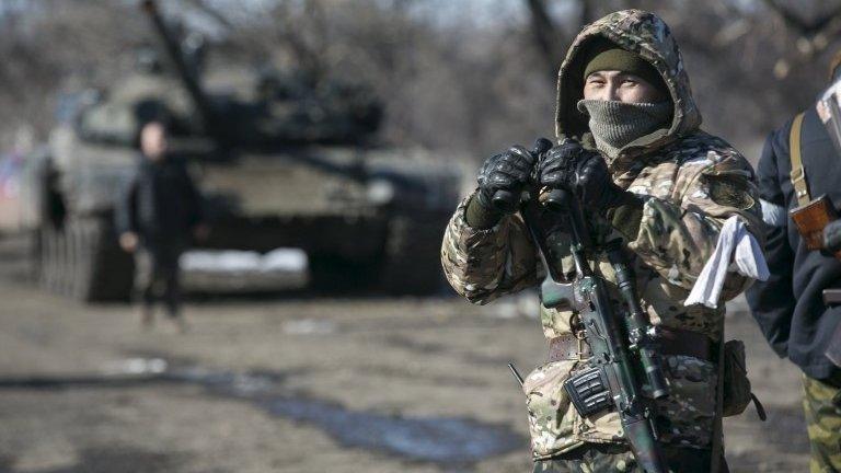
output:
[[[488,158],[479,171],[479,192],[468,204],[468,224],[491,228],[506,214],[517,211],[516,203],[534,169],[534,155],[521,146]],[[494,201],[494,197],[507,197]]]

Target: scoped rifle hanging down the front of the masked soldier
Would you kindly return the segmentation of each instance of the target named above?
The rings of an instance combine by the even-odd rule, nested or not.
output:
[[[545,139],[534,145],[535,158],[551,147]],[[668,395],[658,354],[658,334],[648,322],[636,295],[634,275],[625,261],[621,240],[596,245],[584,221],[581,205],[569,192],[555,189],[545,200],[532,198],[520,205],[520,215],[546,268],[540,287],[541,301],[546,308],[569,307],[578,313],[586,341],[590,345],[589,367],[564,383],[575,408],[583,417],[609,409],[619,413],[625,439],[640,465],[648,473],[666,473],[668,468],[657,443],[655,400]],[[566,220],[569,251],[575,263],[575,278],[563,275],[551,244],[558,240],[543,234],[538,224],[541,212],[555,212]],[[604,279],[590,267],[587,256],[606,254],[617,275],[617,285],[626,305],[620,319],[611,304]],[[646,390],[644,391],[644,387]]]

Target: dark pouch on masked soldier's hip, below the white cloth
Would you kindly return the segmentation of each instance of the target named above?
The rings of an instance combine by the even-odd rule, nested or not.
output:
[[[745,343],[737,339],[725,343],[722,355],[722,362],[724,364],[722,370],[724,377],[722,382],[724,390],[722,415],[724,417],[739,415],[753,401],[759,418],[764,420],[765,409],[750,390],[750,380],[745,361]]]

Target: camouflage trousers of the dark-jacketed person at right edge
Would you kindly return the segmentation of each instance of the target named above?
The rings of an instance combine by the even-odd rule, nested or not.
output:
[[[837,385],[841,382],[803,377],[810,473],[841,472],[841,388]]]

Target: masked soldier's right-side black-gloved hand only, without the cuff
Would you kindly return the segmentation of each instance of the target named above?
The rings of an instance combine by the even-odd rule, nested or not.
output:
[[[571,191],[585,208],[596,212],[613,207],[624,193],[613,184],[601,154],[576,141],[549,150],[538,176],[541,186]]]

